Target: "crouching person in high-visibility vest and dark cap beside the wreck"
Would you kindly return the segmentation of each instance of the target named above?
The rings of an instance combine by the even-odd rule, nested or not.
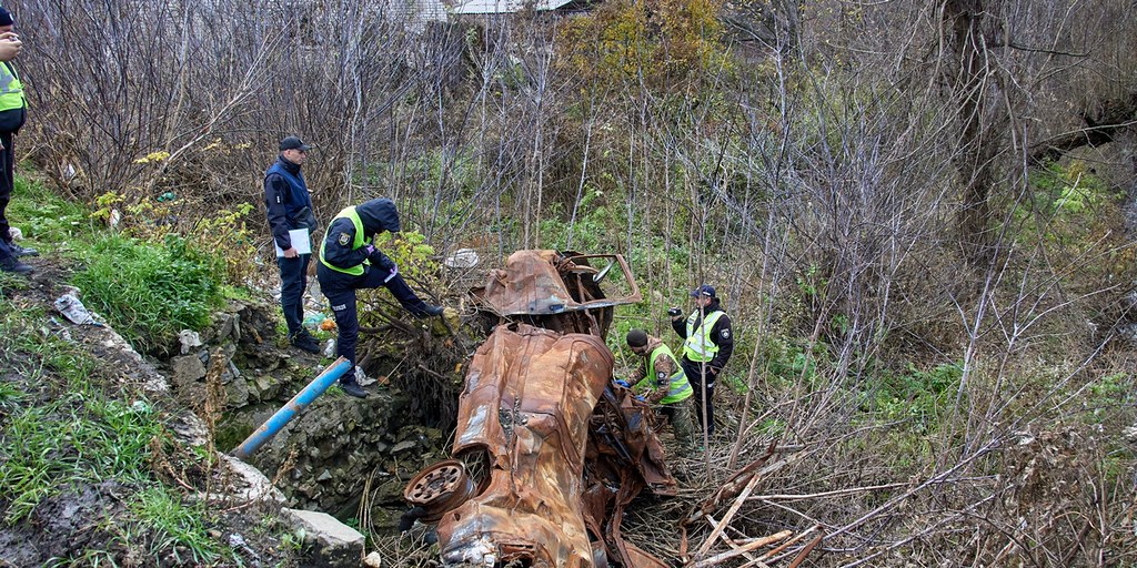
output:
[[[666,343],[652,337],[644,329],[632,329],[624,339],[632,353],[639,356],[640,365],[632,373],[631,389],[642,394],[645,401],[659,404],[659,414],[667,417],[675,433],[675,442],[682,451],[691,449],[690,399],[694,394],[674,353]]]

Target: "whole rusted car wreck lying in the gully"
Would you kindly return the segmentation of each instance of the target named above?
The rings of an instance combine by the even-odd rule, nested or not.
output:
[[[623,278],[625,294],[606,298],[605,278]],[[431,466],[405,492],[438,523],[442,562],[666,566],[620,535],[637,494],[677,490],[650,410],[612,387],[613,308],[640,300],[624,259],[518,251],[474,298],[496,325],[459,400],[462,461]]]

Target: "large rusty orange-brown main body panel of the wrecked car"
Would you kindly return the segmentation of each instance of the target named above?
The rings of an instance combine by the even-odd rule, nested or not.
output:
[[[454,452],[484,450],[488,487],[439,521],[447,563],[592,566],[580,511],[589,418],[614,359],[587,334],[498,326],[459,400]]]

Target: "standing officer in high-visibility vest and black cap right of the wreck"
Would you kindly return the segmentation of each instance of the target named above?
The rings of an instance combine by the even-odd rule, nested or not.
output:
[[[735,334],[730,317],[719,304],[719,295],[709,284],[691,292],[695,311],[683,319],[679,308],[671,308],[671,327],[683,339],[683,358],[680,365],[695,390],[695,415],[714,434],[714,386],[723,367],[735,352]],[[703,392],[706,391],[704,399]]]

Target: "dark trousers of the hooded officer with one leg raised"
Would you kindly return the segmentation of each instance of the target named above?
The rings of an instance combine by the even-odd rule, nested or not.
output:
[[[356,364],[355,348],[359,342],[356,290],[385,287],[412,315],[426,315],[426,303],[415,295],[400,274],[391,276],[390,273],[368,267],[363,275],[352,276],[332,270],[321,262],[316,267],[316,277],[319,278],[321,292],[332,304],[332,314],[335,315],[335,327],[339,329],[335,350],[340,357],[351,361],[351,365]]]

